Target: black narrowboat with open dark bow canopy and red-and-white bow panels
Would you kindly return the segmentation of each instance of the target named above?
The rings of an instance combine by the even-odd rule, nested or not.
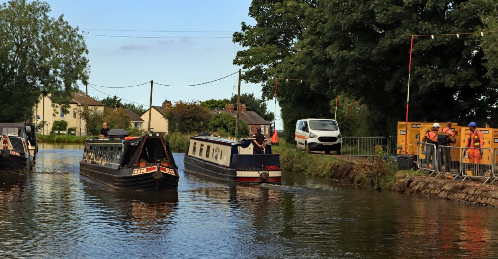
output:
[[[161,134],[128,137],[124,129],[85,140],[80,174],[121,190],[176,190],[179,180],[169,143]]]

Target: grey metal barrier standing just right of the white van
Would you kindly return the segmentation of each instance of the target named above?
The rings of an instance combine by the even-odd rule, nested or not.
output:
[[[341,152],[346,156],[369,157],[375,155],[375,146],[380,146],[387,154],[388,143],[386,137],[343,137]]]

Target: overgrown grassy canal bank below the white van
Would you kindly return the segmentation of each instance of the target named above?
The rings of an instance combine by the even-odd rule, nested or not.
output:
[[[332,156],[319,156],[294,150],[293,145],[280,143],[273,146],[280,154],[282,170],[303,173],[308,176],[340,180],[366,189],[389,189],[396,178],[405,175],[424,175],[412,170],[398,170],[395,161],[385,159],[381,150],[369,160],[354,164]]]

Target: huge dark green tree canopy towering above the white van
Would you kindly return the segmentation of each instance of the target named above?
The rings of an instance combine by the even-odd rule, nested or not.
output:
[[[494,0],[253,0],[256,24],[234,33],[245,47],[234,64],[262,84],[263,97],[275,78],[298,79],[278,81],[288,139],[297,119],[333,116],[341,92],[368,106],[371,134],[394,134],[404,121],[415,35],[409,120],[496,125],[497,33],[456,36],[496,31],[496,9]]]

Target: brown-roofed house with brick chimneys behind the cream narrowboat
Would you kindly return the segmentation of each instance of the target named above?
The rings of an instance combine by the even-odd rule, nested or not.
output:
[[[248,111],[246,104],[239,105],[239,119],[244,121],[249,126],[249,136],[252,137],[256,133],[256,127],[261,127],[261,133],[269,137],[270,136],[270,126],[271,124],[263,119],[255,111]],[[211,110],[211,113],[216,115],[218,113],[228,113],[237,118],[237,111],[235,110],[235,104],[227,103],[225,105],[225,110]],[[269,142],[269,141],[268,141]]]

